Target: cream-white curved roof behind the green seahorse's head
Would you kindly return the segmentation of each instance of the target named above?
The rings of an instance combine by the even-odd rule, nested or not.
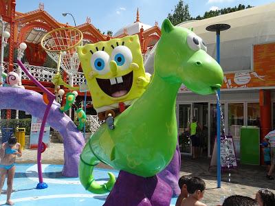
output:
[[[195,34],[203,38],[208,46],[208,54],[216,58],[216,34],[206,31],[206,27],[217,23],[229,24],[230,29],[221,32],[221,67],[225,72],[248,71],[253,69],[253,45],[275,42],[274,20],[275,3],[270,3],[210,19],[188,21],[178,26],[193,27]],[[150,72],[153,60],[147,62],[146,70]]]

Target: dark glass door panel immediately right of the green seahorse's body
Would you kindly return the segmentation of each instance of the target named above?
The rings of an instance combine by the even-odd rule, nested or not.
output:
[[[179,150],[182,153],[191,155],[189,124],[192,117],[192,104],[178,104],[177,107]]]

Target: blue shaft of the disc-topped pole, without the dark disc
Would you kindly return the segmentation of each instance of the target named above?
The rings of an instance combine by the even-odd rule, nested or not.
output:
[[[219,35],[220,31],[216,32],[217,34],[217,62],[220,62],[219,57]],[[220,98],[220,89],[217,91],[219,100]],[[221,110],[219,107],[219,102],[217,100],[217,187],[221,188]]]

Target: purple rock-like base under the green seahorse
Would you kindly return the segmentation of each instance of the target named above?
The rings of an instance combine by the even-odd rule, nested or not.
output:
[[[168,206],[172,189],[157,176],[144,178],[120,171],[104,206]]]

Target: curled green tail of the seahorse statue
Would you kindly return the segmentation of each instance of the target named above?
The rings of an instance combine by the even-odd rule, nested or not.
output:
[[[85,145],[85,148],[83,149],[83,152],[80,155],[80,162],[78,167],[79,179],[83,187],[85,187],[85,189],[89,192],[94,194],[104,194],[110,192],[113,188],[113,185],[115,184],[115,176],[113,173],[108,172],[110,179],[107,183],[100,185],[96,182],[93,176],[93,170],[94,166],[96,166],[100,161],[91,150],[89,144],[90,141],[91,139],[89,139]]]

